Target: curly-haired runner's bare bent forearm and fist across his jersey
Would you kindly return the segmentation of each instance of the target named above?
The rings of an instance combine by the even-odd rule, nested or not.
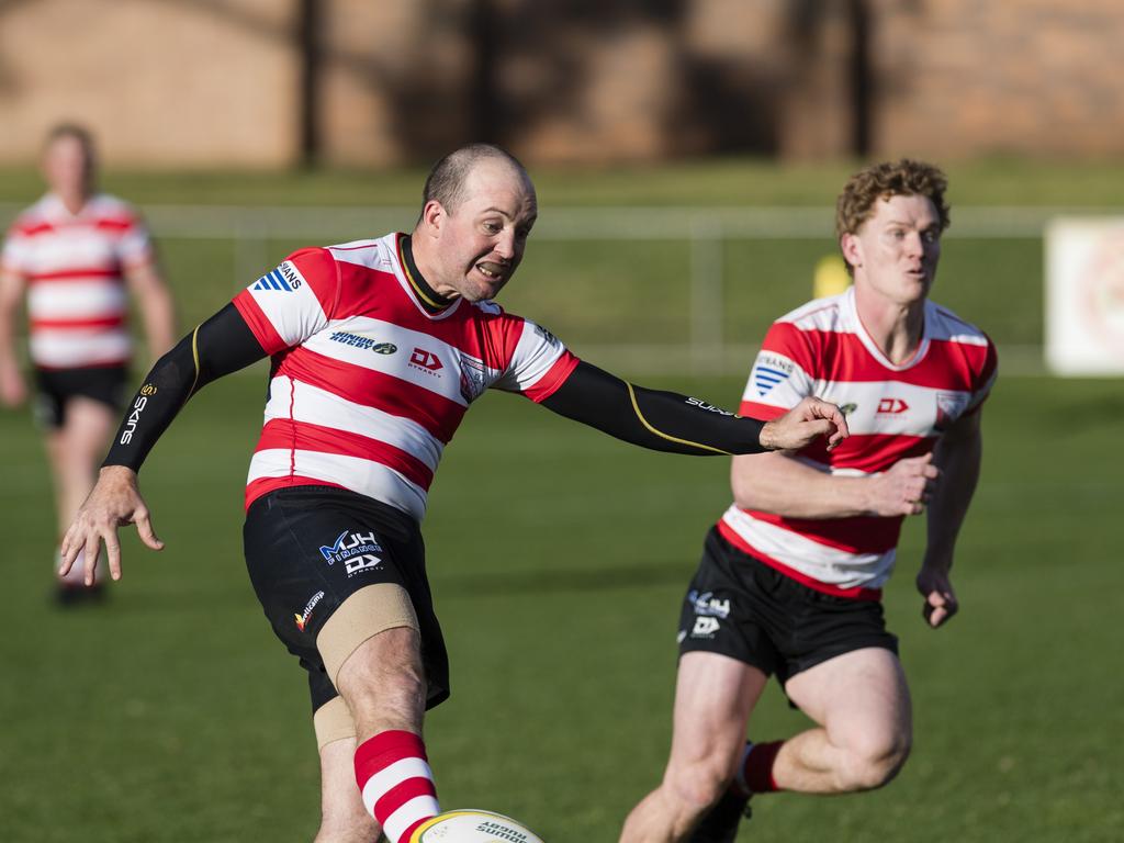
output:
[[[931,454],[899,460],[888,471],[841,477],[788,454],[735,456],[734,502],[787,518],[919,515],[940,475]]]

